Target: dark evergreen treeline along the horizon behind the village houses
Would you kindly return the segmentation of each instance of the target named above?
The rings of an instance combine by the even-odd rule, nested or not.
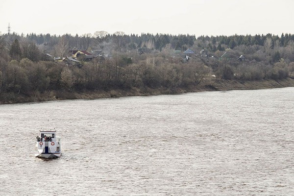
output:
[[[294,42],[294,34],[284,34],[281,36],[273,34],[256,34],[256,35],[232,35],[232,36],[199,36],[195,35],[172,35],[172,34],[149,34],[142,33],[125,35],[123,32],[118,31],[109,34],[106,31],[97,31],[94,34],[87,33],[83,35],[64,34],[62,36],[48,34],[35,34],[30,33],[27,35],[16,33],[4,34],[3,39],[10,45],[15,39],[19,41],[29,41],[37,44],[43,51],[54,54],[54,47],[64,38],[67,46],[70,49],[103,49],[111,51],[119,49],[120,51],[127,51],[139,48],[148,48],[161,51],[167,45],[172,49],[186,50],[196,45],[200,48],[207,47],[212,52],[217,50],[225,50],[226,48],[234,49],[237,46],[264,46],[267,39],[270,39],[272,45],[279,45],[287,47]],[[203,43],[208,43],[204,44]],[[43,46],[41,46],[43,45]]]

